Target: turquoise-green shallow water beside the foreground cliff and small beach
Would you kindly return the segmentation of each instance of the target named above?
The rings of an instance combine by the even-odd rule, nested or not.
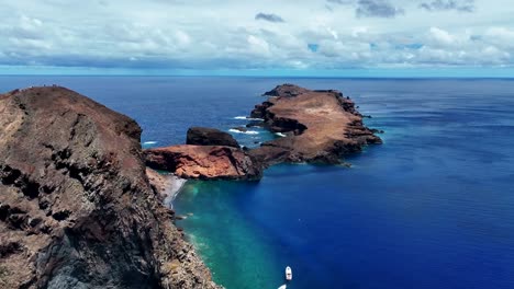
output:
[[[252,216],[233,209],[242,201],[236,195],[253,189],[253,184],[189,182],[175,203],[178,213],[188,216],[178,226],[187,228],[189,241],[212,269],[214,280],[226,288],[278,287],[282,281],[283,268],[266,230],[254,226]]]

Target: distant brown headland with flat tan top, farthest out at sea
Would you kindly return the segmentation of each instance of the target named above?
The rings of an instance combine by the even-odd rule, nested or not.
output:
[[[287,134],[249,151],[265,166],[279,162],[339,163],[345,154],[382,142],[364,125],[354,102],[338,91],[283,84],[265,95],[268,100],[256,105],[250,116],[262,118],[273,132]]]

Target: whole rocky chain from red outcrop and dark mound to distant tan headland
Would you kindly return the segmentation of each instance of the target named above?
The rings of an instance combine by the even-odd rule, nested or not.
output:
[[[248,150],[226,132],[194,127],[188,130],[187,144],[145,150],[146,164],[185,178],[255,181],[277,163],[339,164],[345,155],[382,142],[364,125],[355,103],[338,91],[282,84],[264,95],[268,100],[252,111],[250,125],[283,137]]]

